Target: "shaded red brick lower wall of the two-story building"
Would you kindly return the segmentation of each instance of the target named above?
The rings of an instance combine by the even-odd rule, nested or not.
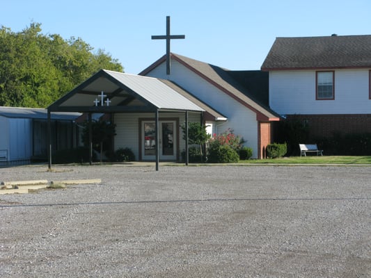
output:
[[[333,133],[371,133],[371,114],[288,115],[308,124],[310,138],[331,137]]]

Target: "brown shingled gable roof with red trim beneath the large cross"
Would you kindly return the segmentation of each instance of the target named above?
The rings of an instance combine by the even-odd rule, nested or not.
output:
[[[198,60],[194,60],[179,54],[171,53],[171,58],[177,60],[185,67],[187,67],[192,72],[195,72],[205,81],[211,83],[219,90],[225,92],[227,95],[239,101],[242,105],[251,109],[257,115],[257,119],[261,121],[276,121],[280,119],[280,116],[272,111],[270,108],[264,104],[260,104],[259,101],[253,99],[251,93],[246,90],[246,87],[239,83],[236,79],[228,73],[229,71],[218,67],[216,65],[211,65],[208,63],[203,63]],[[162,56],[155,63],[150,65],[140,75],[145,75],[151,72],[155,67],[164,63],[166,61],[166,56]]]

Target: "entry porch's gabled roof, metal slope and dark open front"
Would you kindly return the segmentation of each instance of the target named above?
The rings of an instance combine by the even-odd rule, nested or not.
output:
[[[109,105],[95,105],[102,92]],[[111,70],[100,70],[48,109],[91,113],[205,111],[160,79]]]

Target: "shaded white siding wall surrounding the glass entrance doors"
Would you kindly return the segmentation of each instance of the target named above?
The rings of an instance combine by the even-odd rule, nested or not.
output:
[[[139,160],[139,120],[141,118],[155,120],[155,113],[117,113],[115,114],[116,136],[114,149],[129,147],[134,152],[136,160]],[[184,113],[159,113],[160,120],[163,118],[179,119],[181,126],[185,121]],[[200,113],[189,113],[189,122],[200,122]],[[182,129],[179,127],[179,150],[185,149],[185,141],[182,140]]]

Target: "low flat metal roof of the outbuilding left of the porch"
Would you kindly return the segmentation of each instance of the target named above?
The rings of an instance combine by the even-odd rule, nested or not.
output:
[[[75,120],[81,113],[58,113],[52,112],[52,120]],[[24,108],[0,106],[0,116],[24,119],[47,120],[47,109],[45,108]]]

